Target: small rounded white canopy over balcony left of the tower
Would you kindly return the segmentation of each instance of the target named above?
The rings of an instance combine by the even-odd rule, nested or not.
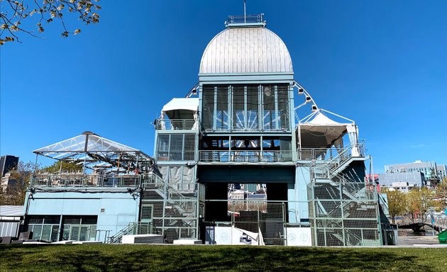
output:
[[[162,108],[162,115],[170,119],[194,119],[199,110],[199,98],[172,98]]]

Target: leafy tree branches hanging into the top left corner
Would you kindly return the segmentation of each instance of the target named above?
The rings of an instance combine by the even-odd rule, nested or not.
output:
[[[62,37],[69,34],[78,34],[79,28],[68,30],[65,26],[64,14],[78,16],[79,21],[85,24],[98,23],[97,11],[101,6],[96,4],[99,0],[3,0],[0,1],[0,45],[5,42],[20,42],[20,33],[27,33],[34,37],[35,31],[43,33],[45,24],[59,21],[62,26]],[[22,26],[22,21],[35,23],[35,28],[30,29]],[[45,28],[44,28],[45,26]]]

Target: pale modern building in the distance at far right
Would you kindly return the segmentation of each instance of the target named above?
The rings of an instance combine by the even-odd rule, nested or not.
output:
[[[438,170],[436,166],[436,162],[410,162],[405,164],[390,164],[385,165],[385,174],[402,174],[402,173],[421,173],[424,176],[424,183],[422,186],[436,186],[436,184],[439,183],[441,180],[438,176]],[[388,176],[390,177],[390,176]],[[401,176],[394,176],[393,179],[400,178]],[[402,175],[402,178],[406,177],[409,178],[409,176]],[[419,179],[419,176],[416,175],[416,177]],[[399,180],[401,181],[401,180]],[[403,181],[403,180],[402,180]],[[390,183],[389,180],[386,182]],[[417,180],[415,181],[407,181],[409,184],[416,184]],[[419,186],[419,185],[416,185]]]

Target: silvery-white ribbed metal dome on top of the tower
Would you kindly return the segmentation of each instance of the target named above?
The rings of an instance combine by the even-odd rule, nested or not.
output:
[[[264,27],[226,28],[209,42],[199,74],[291,72],[281,38]]]

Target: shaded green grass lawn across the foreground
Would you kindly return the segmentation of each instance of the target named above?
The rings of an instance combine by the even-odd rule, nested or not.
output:
[[[2,245],[0,271],[447,271],[447,248]]]

